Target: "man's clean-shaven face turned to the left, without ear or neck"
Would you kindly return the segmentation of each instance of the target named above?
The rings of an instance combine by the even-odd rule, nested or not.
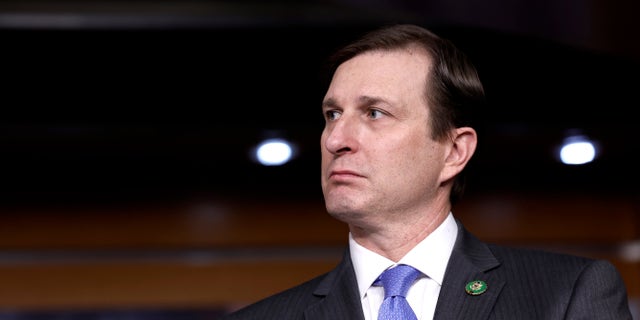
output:
[[[336,70],[321,137],[322,190],[333,216],[376,223],[424,211],[438,196],[447,148],[428,125],[430,65],[422,51],[402,49],[367,52]]]

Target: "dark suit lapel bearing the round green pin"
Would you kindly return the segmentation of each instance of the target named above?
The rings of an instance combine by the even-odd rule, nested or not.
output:
[[[490,270],[500,263],[487,246],[467,232],[458,222],[458,239],[445,272],[434,319],[487,319],[505,285],[505,281]],[[481,280],[487,290],[478,295],[468,294],[469,282]]]

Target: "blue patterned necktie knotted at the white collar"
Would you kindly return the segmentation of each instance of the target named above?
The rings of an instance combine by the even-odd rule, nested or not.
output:
[[[378,311],[378,320],[417,320],[406,295],[420,271],[406,264],[385,270],[374,285],[384,287],[384,301]]]

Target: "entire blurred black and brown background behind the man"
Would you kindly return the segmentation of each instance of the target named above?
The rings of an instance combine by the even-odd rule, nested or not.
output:
[[[0,319],[215,319],[328,271],[347,230],[320,190],[322,68],[396,22],[453,40],[485,83],[456,216],[612,261],[638,318],[639,9],[3,1]],[[259,161],[271,139],[288,160]],[[592,144],[564,164],[566,142]]]

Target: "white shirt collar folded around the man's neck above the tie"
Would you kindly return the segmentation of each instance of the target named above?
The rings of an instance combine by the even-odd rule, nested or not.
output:
[[[410,265],[442,285],[444,272],[458,235],[458,226],[450,212],[438,228],[409,251],[398,264]],[[358,291],[363,298],[378,276],[394,266],[389,260],[358,244],[349,233],[351,261],[356,272]]]

